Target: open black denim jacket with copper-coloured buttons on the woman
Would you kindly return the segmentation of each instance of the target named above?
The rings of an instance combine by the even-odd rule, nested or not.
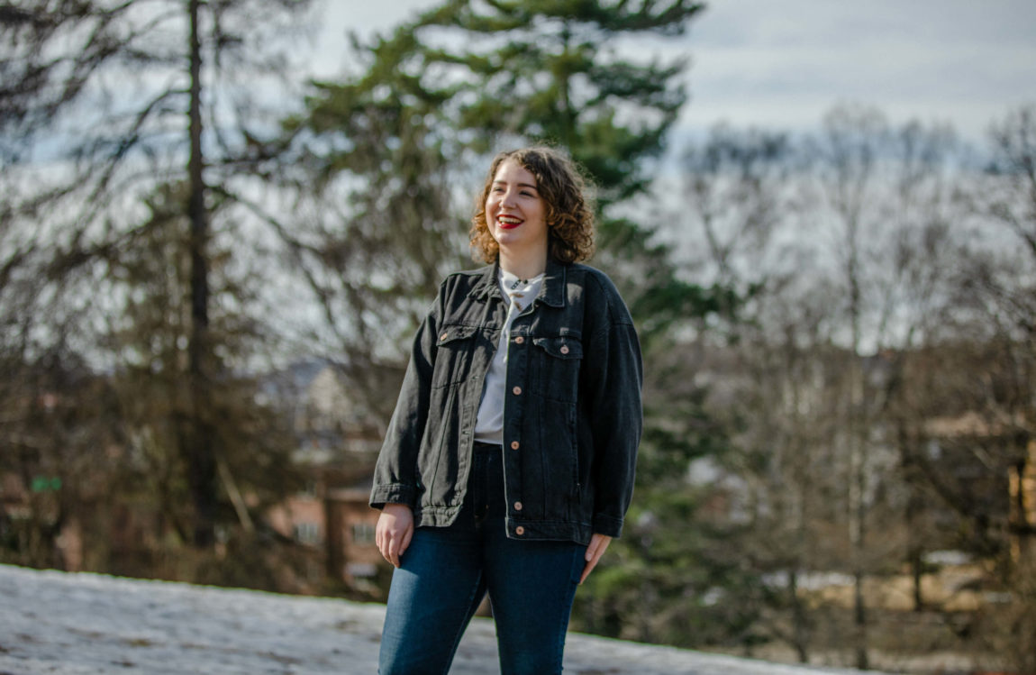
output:
[[[514,320],[503,404],[508,536],[617,537],[633,494],[640,346],[602,272],[549,260],[535,311]],[[413,342],[378,457],[371,505],[408,504],[416,526],[457,517],[472,431],[507,307],[497,266],[450,275]]]

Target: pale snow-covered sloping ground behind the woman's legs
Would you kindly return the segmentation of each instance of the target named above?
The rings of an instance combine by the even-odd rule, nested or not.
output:
[[[0,565],[0,675],[374,674],[384,607]],[[808,675],[767,664],[572,634],[567,673]],[[498,673],[476,619],[453,675]],[[868,675],[874,675],[873,671]]]

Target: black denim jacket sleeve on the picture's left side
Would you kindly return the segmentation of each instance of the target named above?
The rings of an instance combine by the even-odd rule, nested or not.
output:
[[[385,504],[416,505],[418,451],[428,421],[428,406],[435,368],[441,288],[432,309],[425,316],[413,338],[410,361],[406,366],[396,411],[385,432],[381,452],[374,469],[374,485],[370,505],[382,508]]]

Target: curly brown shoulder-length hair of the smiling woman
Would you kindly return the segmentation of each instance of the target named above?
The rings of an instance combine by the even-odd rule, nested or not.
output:
[[[486,199],[506,160],[514,160],[536,177],[537,192],[546,204],[547,250],[562,262],[579,262],[594,253],[594,204],[589,182],[578,165],[552,147],[537,145],[500,152],[493,158],[486,185],[478,196],[471,218],[471,257],[495,262],[500,247],[486,222]]]

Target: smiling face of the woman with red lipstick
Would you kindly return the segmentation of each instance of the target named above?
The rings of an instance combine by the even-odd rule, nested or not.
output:
[[[486,197],[486,224],[508,256],[547,253],[547,205],[536,177],[514,160],[496,169]]]

